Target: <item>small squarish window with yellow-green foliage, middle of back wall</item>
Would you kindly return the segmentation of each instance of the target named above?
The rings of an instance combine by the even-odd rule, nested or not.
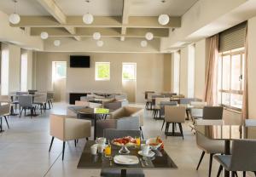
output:
[[[96,62],[95,79],[110,80],[110,62]]]

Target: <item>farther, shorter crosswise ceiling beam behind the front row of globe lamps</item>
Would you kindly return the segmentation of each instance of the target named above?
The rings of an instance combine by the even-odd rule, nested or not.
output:
[[[49,34],[49,37],[91,37],[95,31],[99,31],[102,34],[102,37],[145,37],[145,33],[150,31],[154,33],[154,37],[168,37],[169,29],[156,29],[156,28],[127,28],[126,34],[122,35],[120,28],[76,28],[76,33],[71,34],[66,31],[64,28],[56,27],[32,27],[31,35],[40,36],[41,31],[46,31]]]

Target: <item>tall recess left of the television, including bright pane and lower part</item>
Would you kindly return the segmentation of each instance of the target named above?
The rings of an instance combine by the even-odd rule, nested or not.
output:
[[[66,101],[67,61],[52,62],[52,87],[55,101]]]

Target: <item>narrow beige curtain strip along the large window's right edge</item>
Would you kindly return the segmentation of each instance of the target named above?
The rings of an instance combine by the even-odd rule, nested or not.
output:
[[[247,84],[247,26],[246,26],[246,38],[245,38],[245,57],[244,57],[244,73],[243,73],[243,94],[242,94],[242,108],[241,108],[241,120],[244,121],[248,118],[248,84]]]

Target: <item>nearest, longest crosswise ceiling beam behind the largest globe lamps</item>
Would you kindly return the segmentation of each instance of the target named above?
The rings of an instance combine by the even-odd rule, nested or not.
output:
[[[67,23],[61,24],[51,16],[21,16],[13,27],[127,27],[127,28],[177,28],[181,27],[181,17],[170,17],[166,26],[158,23],[157,16],[130,16],[127,25],[122,24],[121,16],[95,16],[91,25],[84,24],[82,16],[67,16]]]

